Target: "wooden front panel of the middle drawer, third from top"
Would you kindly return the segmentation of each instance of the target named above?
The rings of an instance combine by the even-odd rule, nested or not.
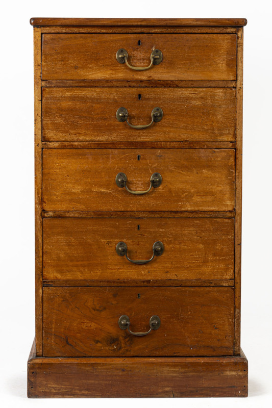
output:
[[[43,149],[43,210],[232,211],[234,173],[233,149]]]

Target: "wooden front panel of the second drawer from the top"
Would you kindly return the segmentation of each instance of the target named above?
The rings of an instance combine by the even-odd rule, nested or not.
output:
[[[134,129],[116,119],[120,107]],[[43,88],[44,141],[235,141],[233,88]]]

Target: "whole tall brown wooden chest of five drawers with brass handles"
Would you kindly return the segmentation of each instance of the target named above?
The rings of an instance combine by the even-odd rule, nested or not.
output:
[[[31,24],[29,397],[246,396],[246,20]]]

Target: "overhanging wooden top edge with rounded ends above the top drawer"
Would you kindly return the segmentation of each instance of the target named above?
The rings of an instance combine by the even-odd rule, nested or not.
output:
[[[47,18],[33,17],[31,25],[176,25],[242,27],[246,25],[246,18]]]

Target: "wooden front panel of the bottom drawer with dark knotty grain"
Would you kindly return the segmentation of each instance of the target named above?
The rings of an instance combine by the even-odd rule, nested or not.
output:
[[[45,287],[43,355],[231,355],[233,305],[231,287]]]

